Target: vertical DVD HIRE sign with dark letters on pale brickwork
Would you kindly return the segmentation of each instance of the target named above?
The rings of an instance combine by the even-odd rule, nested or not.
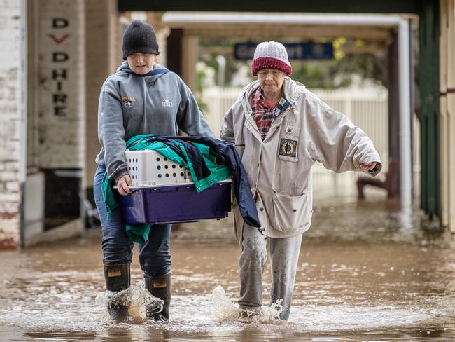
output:
[[[83,0],[40,0],[35,66],[38,160],[43,168],[83,165]]]

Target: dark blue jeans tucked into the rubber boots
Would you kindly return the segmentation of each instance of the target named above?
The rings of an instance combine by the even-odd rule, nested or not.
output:
[[[106,203],[102,193],[102,180],[106,168],[98,167],[94,175],[94,200],[97,203],[103,230],[103,263],[129,264],[132,259],[133,242],[128,238],[123,214],[116,207],[107,219]],[[153,278],[171,273],[170,224],[151,226],[146,243],[139,245],[139,263],[145,278]]]

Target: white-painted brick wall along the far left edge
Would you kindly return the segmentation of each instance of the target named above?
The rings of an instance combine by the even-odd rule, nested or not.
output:
[[[20,1],[0,0],[0,249],[19,242]]]

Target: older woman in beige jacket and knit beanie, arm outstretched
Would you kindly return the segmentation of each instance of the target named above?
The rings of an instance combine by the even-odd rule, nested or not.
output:
[[[281,43],[260,43],[251,72],[258,80],[244,88],[221,126],[221,138],[237,146],[262,225],[248,226],[234,210],[241,245],[239,307],[249,316],[262,306],[269,240],[271,304],[282,301],[279,317],[288,320],[302,234],[313,212],[311,165],[377,175],[381,163],[363,130],[288,77],[292,67]]]

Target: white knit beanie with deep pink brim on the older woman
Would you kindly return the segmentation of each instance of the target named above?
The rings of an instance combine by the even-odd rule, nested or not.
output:
[[[286,48],[276,41],[260,43],[254,51],[253,58],[253,64],[251,64],[253,76],[257,76],[260,69],[267,68],[283,71],[287,76],[293,72]]]

